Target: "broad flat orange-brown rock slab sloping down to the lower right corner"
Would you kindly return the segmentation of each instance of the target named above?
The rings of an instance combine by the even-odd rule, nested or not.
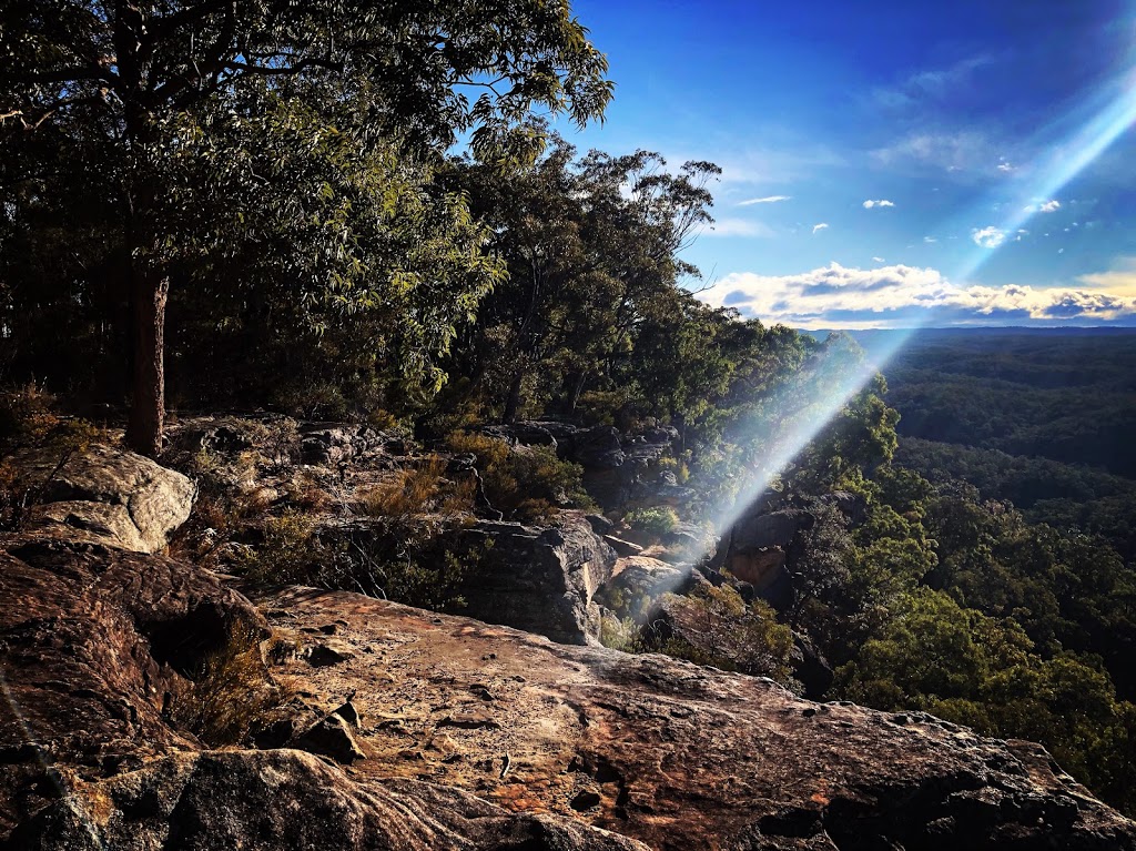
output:
[[[1136,826],[1037,745],[358,594],[260,602],[300,641],[345,624],[353,658],[277,670],[326,711],[353,693],[359,778],[429,781],[660,851],[1136,848]]]

